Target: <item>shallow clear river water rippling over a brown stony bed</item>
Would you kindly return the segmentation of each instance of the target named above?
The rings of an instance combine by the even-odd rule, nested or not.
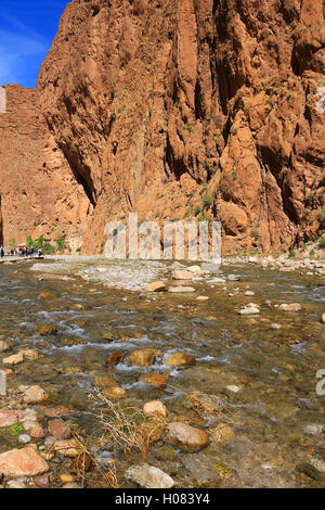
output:
[[[16,275],[15,266],[0,268],[0,334],[16,347],[39,349],[43,357],[16,366],[10,387],[40,384],[54,404],[77,409],[75,419],[88,433],[95,426],[87,412],[96,375],[114,373],[128,391],[126,401],[141,408],[159,398],[170,417],[202,429],[211,422],[188,411],[185,396],[194,391],[218,395],[227,412],[213,420],[232,425],[232,443],[210,443],[190,454],[168,450],[159,441],[151,446],[148,462],[182,487],[324,486],[325,428],[313,435],[306,429],[324,425],[324,396],[315,390],[316,372],[325,368],[325,326],[320,322],[324,278],[237,266],[224,268],[224,273],[237,272],[239,282],[191,282],[194,294],[147,298],[80,278],[38,281],[39,273],[28,266],[20,266]],[[253,296],[244,295],[248,288]],[[40,299],[44,291],[55,297]],[[198,295],[209,301],[197,302]],[[260,315],[240,317],[237,311],[250,302],[260,304]],[[274,305],[281,303],[300,303],[302,310],[280,311]],[[83,309],[74,309],[78,304]],[[273,322],[282,328],[273,330]],[[58,328],[57,334],[41,336],[39,326],[50,323]],[[114,332],[116,340],[107,343],[103,331]],[[123,360],[106,368],[110,353],[127,355],[141,347],[161,352],[154,367],[129,367]],[[170,371],[164,361],[177,350],[193,355],[195,366]],[[158,390],[139,382],[144,372],[169,372],[168,386]],[[234,393],[229,385],[239,391]],[[99,455],[110,452],[106,447]],[[127,463],[120,459],[121,469]],[[132,486],[122,476],[121,485]]]

